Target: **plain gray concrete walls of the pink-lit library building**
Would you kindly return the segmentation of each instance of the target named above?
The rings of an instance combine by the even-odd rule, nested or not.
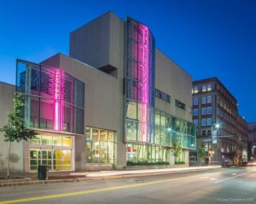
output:
[[[126,166],[125,122],[124,122],[124,71],[125,71],[125,21],[120,20],[112,12],[102,14],[70,34],[70,56],[55,54],[41,62],[60,68],[71,76],[84,82],[84,127],[96,127],[111,130],[116,133],[117,149],[115,150],[116,168]],[[192,81],[186,71],[183,71],[166,54],[155,49],[155,88],[171,96],[170,103],[155,98],[155,108],[171,116],[192,122]],[[7,90],[8,89],[8,90]],[[12,109],[15,87],[0,83],[0,126],[7,120],[7,112]],[[3,99],[5,101],[3,103]],[[181,101],[186,108],[176,105]],[[3,117],[3,118],[2,118]],[[3,137],[1,137],[2,139]],[[3,139],[2,139],[3,140]],[[1,147],[3,141],[1,140]],[[22,144],[15,148],[20,160],[16,169],[23,171]],[[5,150],[0,150],[3,154]],[[189,150],[184,150],[185,163],[189,164]],[[5,162],[6,155],[0,162]],[[24,157],[24,156],[23,156]],[[85,133],[75,136],[75,170],[84,170]],[[171,158],[173,160],[173,158]],[[99,169],[101,164],[96,164]],[[102,165],[105,168],[106,165]],[[112,167],[112,166],[111,166]],[[93,169],[90,165],[90,169]],[[0,169],[1,171],[1,169]]]

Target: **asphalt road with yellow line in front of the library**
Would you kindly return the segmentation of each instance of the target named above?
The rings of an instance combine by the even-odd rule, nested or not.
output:
[[[256,167],[0,188],[3,203],[256,203]]]

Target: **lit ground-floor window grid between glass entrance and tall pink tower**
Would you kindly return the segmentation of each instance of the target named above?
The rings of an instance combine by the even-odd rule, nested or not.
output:
[[[116,133],[111,130],[86,127],[86,162],[116,163]]]

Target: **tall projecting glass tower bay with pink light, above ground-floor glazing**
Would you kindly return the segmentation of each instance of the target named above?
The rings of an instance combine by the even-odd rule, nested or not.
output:
[[[125,71],[126,138],[151,143],[154,137],[154,37],[148,26],[127,20]]]

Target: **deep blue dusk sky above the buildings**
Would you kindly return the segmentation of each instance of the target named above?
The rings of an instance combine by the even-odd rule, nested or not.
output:
[[[5,3],[4,3],[5,2]],[[193,80],[218,77],[256,122],[256,1],[1,1],[0,81],[15,84],[15,59],[68,54],[69,33],[112,10],[150,27],[160,50]]]

